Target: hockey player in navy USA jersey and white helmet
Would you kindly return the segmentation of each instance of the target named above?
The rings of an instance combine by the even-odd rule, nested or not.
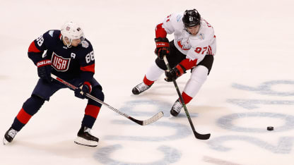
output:
[[[51,73],[57,75],[78,87],[74,91],[76,97],[85,99],[90,93],[101,101],[104,100],[101,85],[93,78],[95,73],[94,51],[90,42],[84,37],[81,27],[73,22],[67,22],[61,30],[49,30],[35,39],[28,49],[28,57],[37,66],[40,79],[14,119],[11,128],[4,135],[4,145],[12,142],[23,126],[37,113],[45,101],[66,86],[52,80]],[[98,138],[90,134],[99,114],[101,104],[88,99],[85,114],[81,121],[74,142],[78,145],[95,147]]]

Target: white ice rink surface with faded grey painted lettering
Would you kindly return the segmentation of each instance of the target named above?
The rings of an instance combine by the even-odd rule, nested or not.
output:
[[[73,140],[86,100],[60,90],[11,144],[0,145],[0,164],[293,165],[293,6],[292,0],[0,0],[0,138],[37,82],[30,42],[66,20],[80,23],[93,44],[107,104],[140,120],[165,114],[139,126],[102,106],[92,130],[99,145],[83,147]],[[211,74],[187,105],[209,140],[194,138],[184,111],[170,116],[177,93],[163,75],[146,93],[131,94],[155,60],[155,25],[192,8],[217,38]],[[177,80],[181,91],[189,74]]]

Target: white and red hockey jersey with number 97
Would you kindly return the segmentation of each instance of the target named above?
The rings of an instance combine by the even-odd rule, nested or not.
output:
[[[175,47],[187,55],[187,59],[195,60],[197,63],[204,59],[206,54],[216,54],[216,36],[213,27],[201,18],[201,25],[197,35],[190,35],[184,30],[182,21],[183,13],[173,13],[163,20],[163,28],[167,34],[174,33]]]

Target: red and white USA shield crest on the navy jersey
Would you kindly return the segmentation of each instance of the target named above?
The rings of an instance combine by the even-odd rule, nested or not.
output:
[[[71,59],[64,59],[61,56],[57,56],[57,54],[53,52],[51,61],[52,61],[52,67],[56,71],[65,72],[69,69],[69,63]]]

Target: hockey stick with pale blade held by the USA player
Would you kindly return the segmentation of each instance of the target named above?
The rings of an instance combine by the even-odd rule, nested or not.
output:
[[[64,85],[66,85],[67,87],[71,88],[71,90],[76,90],[76,88],[78,88],[78,87],[76,87],[74,85],[71,85],[69,82],[66,82],[65,80],[62,80],[61,78],[57,77],[56,75],[53,75],[52,73],[51,73],[51,77],[54,80],[57,80],[57,81],[63,83]],[[111,109],[112,111],[117,112],[117,114],[120,114],[120,115],[122,115],[122,116],[124,116],[126,118],[129,118],[131,121],[134,121],[135,123],[138,123],[141,126],[146,126],[146,125],[148,125],[150,123],[153,123],[155,121],[158,121],[159,118],[163,117],[163,111],[160,111],[158,114],[155,114],[153,117],[151,117],[151,118],[149,118],[149,119],[147,119],[145,121],[140,121],[140,120],[137,120],[136,118],[133,118],[133,117],[127,115],[127,114],[122,113],[118,109],[115,109],[114,107],[106,104],[105,102],[102,102],[100,99],[98,99],[96,97],[93,97],[91,94],[86,93],[86,97],[88,97],[90,99],[93,99],[95,102],[98,102],[100,104],[103,104],[104,106],[106,106],[107,108]]]

